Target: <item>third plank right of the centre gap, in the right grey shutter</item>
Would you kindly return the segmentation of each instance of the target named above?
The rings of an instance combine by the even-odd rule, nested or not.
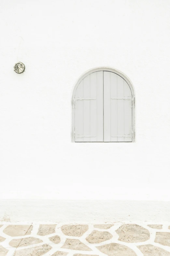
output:
[[[124,79],[117,75],[117,96],[124,97]],[[118,99],[118,135],[124,135],[124,100]],[[124,141],[124,137],[118,137],[118,142]]]

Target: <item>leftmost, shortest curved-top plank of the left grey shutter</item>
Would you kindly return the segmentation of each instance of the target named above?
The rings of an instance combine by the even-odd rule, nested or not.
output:
[[[76,100],[83,97],[83,80],[79,83],[75,94],[75,142],[83,142],[83,138],[76,138],[83,135],[83,100]]]

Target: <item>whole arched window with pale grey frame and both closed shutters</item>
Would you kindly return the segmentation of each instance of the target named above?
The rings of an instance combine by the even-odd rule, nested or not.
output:
[[[109,68],[78,80],[72,96],[73,142],[134,142],[135,95],[130,81]]]

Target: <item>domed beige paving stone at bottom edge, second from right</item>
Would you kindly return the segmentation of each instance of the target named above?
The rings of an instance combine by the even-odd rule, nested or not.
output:
[[[115,243],[97,246],[96,248],[109,256],[137,256],[131,248]]]

